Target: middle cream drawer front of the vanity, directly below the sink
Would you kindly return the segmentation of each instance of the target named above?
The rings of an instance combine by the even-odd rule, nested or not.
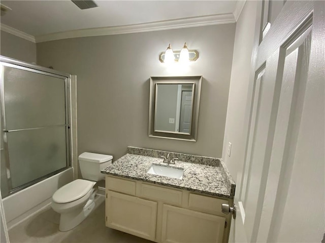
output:
[[[141,184],[141,197],[163,201],[167,204],[180,206],[182,204],[182,192],[147,184]]]

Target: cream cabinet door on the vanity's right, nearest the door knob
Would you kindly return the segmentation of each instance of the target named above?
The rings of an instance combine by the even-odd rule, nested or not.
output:
[[[163,242],[222,242],[225,218],[169,205],[163,207]]]

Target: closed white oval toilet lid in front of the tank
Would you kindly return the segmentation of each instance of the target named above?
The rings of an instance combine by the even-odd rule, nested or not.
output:
[[[96,184],[93,181],[77,179],[60,187],[52,196],[55,203],[65,204],[75,201],[86,195]]]

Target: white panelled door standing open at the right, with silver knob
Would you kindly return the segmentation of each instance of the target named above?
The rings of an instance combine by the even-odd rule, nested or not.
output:
[[[324,7],[287,1],[258,47],[236,242],[322,239]]]

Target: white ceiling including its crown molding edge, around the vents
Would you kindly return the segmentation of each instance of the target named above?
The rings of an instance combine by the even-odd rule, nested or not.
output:
[[[1,1],[11,8],[1,16],[2,29],[14,29],[34,37],[64,38],[58,33],[82,35],[80,30],[118,28],[137,31],[208,25],[222,20],[235,22],[241,1],[99,1],[99,6],[81,10],[71,1]],[[214,22],[213,22],[214,21]],[[214,23],[215,24],[215,23]],[[149,28],[149,30],[148,30]],[[79,32],[73,32],[78,30]],[[157,30],[157,29],[156,29]],[[5,30],[6,31],[6,30]],[[7,31],[10,32],[10,31]],[[123,31],[122,31],[123,32]],[[127,32],[127,31],[126,31]],[[132,32],[132,31],[129,31]],[[56,33],[56,37],[53,37]],[[68,34],[68,35],[67,35]],[[83,35],[86,35],[83,33]],[[88,36],[91,34],[88,34]],[[94,35],[94,34],[92,34]],[[100,35],[100,34],[99,34]],[[52,37],[50,37],[52,36]],[[61,37],[60,37],[61,36]],[[69,36],[68,36],[69,37]],[[71,36],[70,36],[71,37]],[[42,41],[42,38],[41,38]]]

